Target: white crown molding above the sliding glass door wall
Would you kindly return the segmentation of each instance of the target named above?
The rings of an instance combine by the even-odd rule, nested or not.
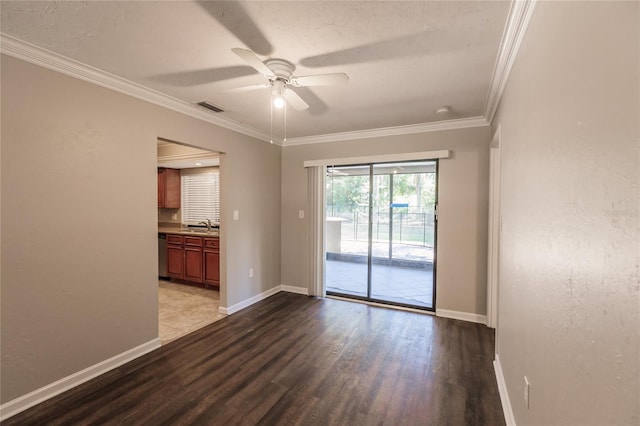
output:
[[[414,133],[486,127],[488,125],[489,122],[485,120],[484,117],[459,118],[455,120],[436,121],[432,123],[411,124],[408,126],[382,127],[380,129],[356,130],[353,132],[287,138],[287,141],[283,143],[283,146],[287,147],[293,145],[306,145],[311,143],[349,141],[355,139],[379,138],[384,136],[411,135]]]

